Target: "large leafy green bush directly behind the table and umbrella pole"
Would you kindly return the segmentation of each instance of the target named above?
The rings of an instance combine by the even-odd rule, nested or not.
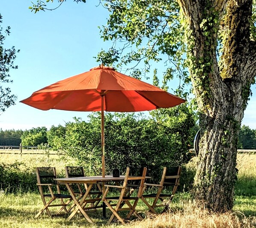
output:
[[[195,125],[193,113],[186,105],[142,114],[105,114],[105,166],[107,173],[118,168],[147,167],[152,181],[159,180],[164,166],[188,163]],[[101,114],[93,113],[89,121],[75,118],[65,125],[58,140],[51,145],[85,167],[86,175],[101,174]]]

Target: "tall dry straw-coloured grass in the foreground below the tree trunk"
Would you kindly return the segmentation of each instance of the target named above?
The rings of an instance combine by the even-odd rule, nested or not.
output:
[[[183,201],[182,210],[173,209],[162,215],[148,215],[143,221],[133,221],[131,228],[253,228],[256,217],[247,218],[240,212],[209,213],[196,202]]]

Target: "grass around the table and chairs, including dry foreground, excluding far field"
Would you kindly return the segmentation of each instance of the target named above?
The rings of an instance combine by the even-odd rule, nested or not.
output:
[[[24,194],[1,194],[0,195],[0,228],[64,228],[64,227],[123,227],[119,223],[106,225],[107,219],[101,216],[102,210],[89,213],[95,222],[91,225],[81,215],[75,216],[71,221],[66,217],[49,218],[47,214],[34,218],[38,210],[42,208],[42,200],[38,193]],[[253,227],[256,225],[256,198],[239,197],[235,201],[234,210],[240,212],[227,213],[224,215],[212,215],[206,210],[200,209],[199,205],[191,202],[188,193],[178,193],[174,198],[171,213],[150,219],[152,215],[147,212],[146,206],[140,201],[137,210],[146,218],[142,221],[133,220],[126,227]],[[125,212],[123,212],[125,213]],[[243,214],[247,214],[245,217]],[[107,218],[111,215],[107,209]],[[125,214],[123,214],[125,216]],[[201,225],[200,225],[201,224]],[[216,226],[215,226],[215,225]],[[220,226],[221,225],[221,226]]]

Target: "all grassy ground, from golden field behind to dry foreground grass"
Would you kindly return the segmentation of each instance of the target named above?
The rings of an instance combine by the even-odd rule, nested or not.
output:
[[[63,172],[66,165],[59,161],[56,155],[0,156],[0,162],[12,164],[15,161],[24,162],[31,167],[54,166],[57,167],[57,172]],[[72,161],[69,164],[72,164]],[[256,155],[238,155],[237,167],[239,172],[232,212],[208,213],[193,201],[189,193],[176,193],[171,213],[152,216],[143,202],[139,201],[137,210],[142,211],[145,219],[130,221],[125,227],[256,227]],[[101,209],[89,214],[95,222],[94,225],[89,224],[81,215],[75,216],[71,221],[66,221],[65,217],[49,218],[47,215],[35,219],[34,216],[42,209],[42,205],[39,193],[6,194],[0,191],[0,228],[123,227],[119,223],[106,225],[107,219],[102,218]],[[110,215],[107,209],[107,218]]]

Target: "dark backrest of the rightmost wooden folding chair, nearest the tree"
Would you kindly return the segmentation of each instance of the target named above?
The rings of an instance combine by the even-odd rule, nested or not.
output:
[[[160,184],[168,186],[177,186],[179,184],[179,178],[181,175],[182,167],[164,167],[162,179]]]

